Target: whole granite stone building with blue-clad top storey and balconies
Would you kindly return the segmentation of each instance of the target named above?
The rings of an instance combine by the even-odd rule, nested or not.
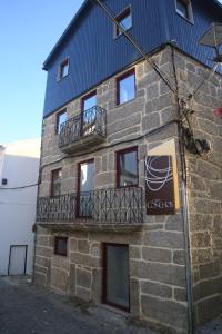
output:
[[[222,77],[198,43],[220,12],[83,3],[44,62],[37,284],[176,333],[220,314]]]

